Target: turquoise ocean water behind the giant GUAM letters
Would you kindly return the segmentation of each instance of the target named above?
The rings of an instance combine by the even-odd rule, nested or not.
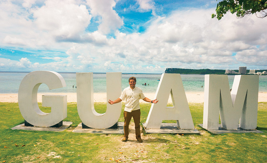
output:
[[[28,73],[22,72],[0,72],[0,93],[18,93],[21,80]],[[76,92],[76,74],[60,73],[66,81],[67,86],[49,90],[47,85],[41,84],[38,92]],[[137,78],[136,86],[142,88],[143,92],[156,92],[161,74],[122,74],[122,90],[129,86],[128,79],[131,76]],[[186,92],[204,92],[204,75],[181,74],[183,87]],[[229,85],[232,88],[234,75],[228,75]],[[142,85],[147,83],[147,85]],[[148,85],[149,84],[149,85]],[[74,88],[72,86],[74,85]],[[203,85],[203,87],[201,87]],[[106,92],[106,74],[93,74],[94,92]],[[260,76],[259,92],[267,92],[267,76]]]

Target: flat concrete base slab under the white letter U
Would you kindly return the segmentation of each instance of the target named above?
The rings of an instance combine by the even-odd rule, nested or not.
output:
[[[80,123],[72,132],[77,133],[91,133],[91,134],[124,134],[123,131],[124,122],[118,122],[117,129],[96,129],[96,128],[82,128],[82,123]]]

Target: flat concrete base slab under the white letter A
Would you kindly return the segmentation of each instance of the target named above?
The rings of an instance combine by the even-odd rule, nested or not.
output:
[[[145,123],[143,123],[143,126],[145,126]],[[145,132],[147,134],[200,134],[201,132],[197,129],[179,129],[177,127],[177,123],[161,123],[160,129],[145,129]]]

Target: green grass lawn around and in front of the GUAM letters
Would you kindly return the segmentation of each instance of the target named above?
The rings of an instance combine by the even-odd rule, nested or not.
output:
[[[151,104],[140,106],[142,124]],[[50,108],[41,104],[39,107],[50,112]],[[136,140],[124,143],[120,134],[71,132],[81,122],[76,103],[68,103],[68,117],[64,121],[73,124],[62,132],[11,130],[24,122],[18,104],[0,103],[0,162],[267,162],[266,102],[260,102],[258,107],[257,129],[264,133],[210,134],[197,126],[203,123],[203,104],[189,107],[194,126],[201,134],[144,133],[143,143]],[[106,104],[95,103],[95,108],[105,113]],[[124,121],[122,113],[119,121]]]

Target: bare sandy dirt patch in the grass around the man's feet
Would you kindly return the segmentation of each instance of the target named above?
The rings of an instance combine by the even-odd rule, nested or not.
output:
[[[141,128],[142,130],[142,128]],[[125,161],[125,162],[134,162],[134,163],[143,163],[143,162],[155,162],[159,157],[162,159],[168,159],[168,154],[165,152],[160,152],[154,147],[151,147],[150,143],[156,143],[158,138],[153,135],[144,135],[141,131],[141,138],[143,139],[143,143],[139,143],[135,138],[135,128],[134,122],[130,122],[129,124],[129,136],[126,142],[122,142],[123,135],[112,137],[112,141],[114,144],[114,150],[112,153],[107,153],[107,151],[103,151],[103,154],[98,157],[99,159],[106,161]],[[164,146],[166,143],[160,143],[159,146]],[[114,155],[115,153],[115,155]],[[153,153],[153,155],[151,155]],[[155,157],[155,153],[156,157]]]

